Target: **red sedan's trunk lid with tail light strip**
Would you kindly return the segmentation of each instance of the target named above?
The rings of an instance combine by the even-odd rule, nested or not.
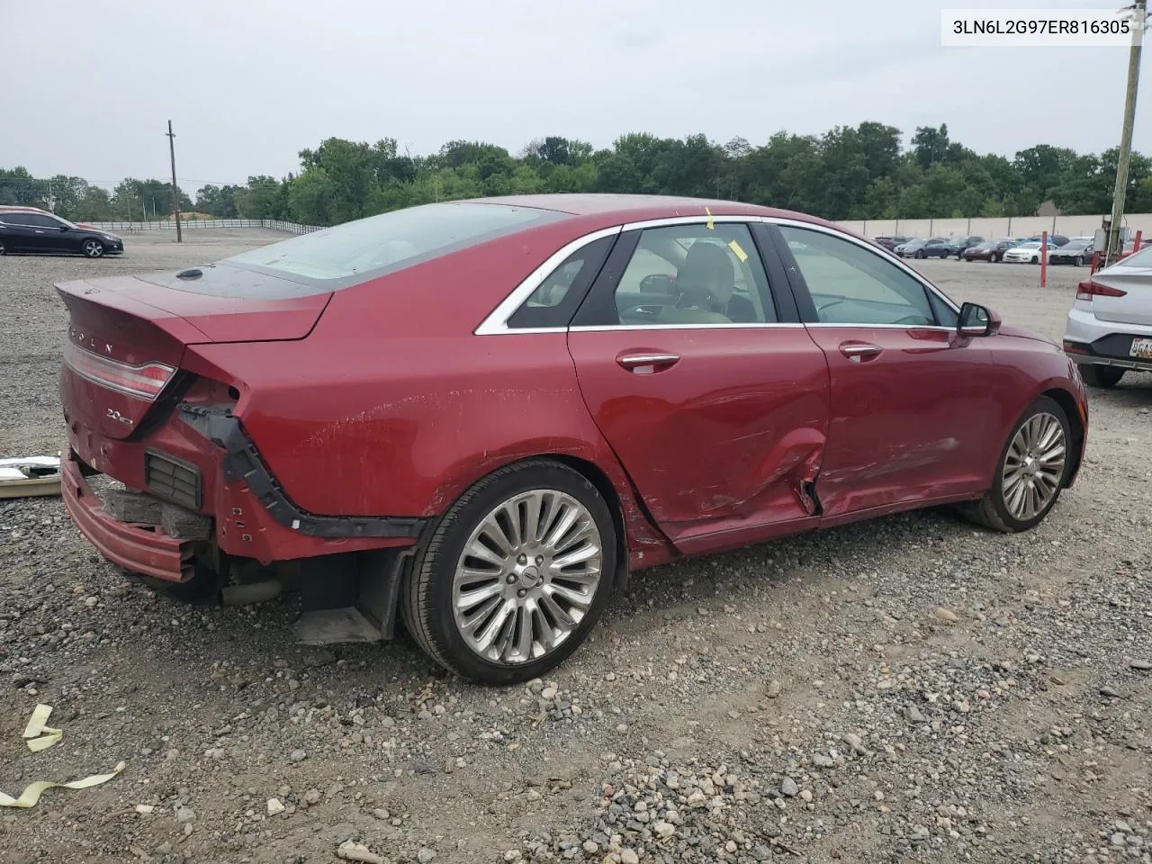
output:
[[[158,409],[187,346],[303,339],[332,297],[222,265],[60,282],[56,290],[69,316],[65,419],[74,431],[83,425],[114,439]]]

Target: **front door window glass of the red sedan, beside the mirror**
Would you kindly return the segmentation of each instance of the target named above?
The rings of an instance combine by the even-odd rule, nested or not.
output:
[[[780,226],[780,232],[808,283],[820,324],[937,324],[924,286],[879,255],[824,232],[791,226]]]

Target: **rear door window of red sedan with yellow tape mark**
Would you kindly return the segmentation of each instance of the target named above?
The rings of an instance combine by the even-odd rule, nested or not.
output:
[[[615,291],[623,326],[776,321],[746,225],[647,228]]]

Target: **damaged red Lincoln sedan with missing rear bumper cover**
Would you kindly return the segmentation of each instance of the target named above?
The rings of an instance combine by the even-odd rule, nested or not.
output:
[[[1030,529],[1087,432],[1059,346],[730,202],[430,204],[58,290],[65,501],[105,556],[300,590],[310,643],[399,609],[495,684],[679,556],[943,503]]]

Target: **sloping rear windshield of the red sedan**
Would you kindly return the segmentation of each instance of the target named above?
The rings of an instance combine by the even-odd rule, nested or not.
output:
[[[339,288],[564,217],[506,204],[424,204],[302,234],[221,263]]]

